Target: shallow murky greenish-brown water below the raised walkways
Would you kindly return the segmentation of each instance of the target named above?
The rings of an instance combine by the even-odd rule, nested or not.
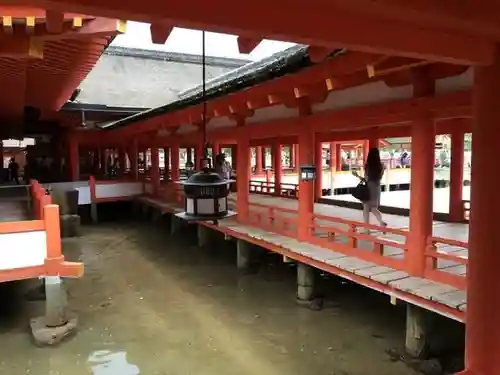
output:
[[[295,270],[269,256],[239,275],[234,243],[197,248],[159,223],[85,227],[65,240],[85,277],[67,283],[79,332],[37,348],[26,283],[0,285],[0,373],[93,375],[409,375],[385,354],[404,339],[404,309],[330,278],[322,311],[295,303]]]

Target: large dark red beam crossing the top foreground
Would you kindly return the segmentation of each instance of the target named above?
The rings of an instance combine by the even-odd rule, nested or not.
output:
[[[14,0],[6,1],[10,4],[14,3]],[[443,31],[442,26],[439,28],[440,25],[437,23],[431,29],[428,18],[436,14],[436,5],[435,2],[431,4],[430,1],[425,1],[426,8],[421,12],[422,17],[413,20],[413,23],[401,22],[402,17],[413,17],[415,14],[411,11],[406,12],[405,5],[397,6],[393,3],[392,17],[389,17],[383,11],[389,7],[388,5],[384,6],[380,2],[374,4],[369,0],[353,2],[313,0],[306,8],[299,1],[283,3],[255,0],[245,3],[243,8],[238,9],[232,7],[229,0],[176,1],[168,4],[158,0],[127,3],[121,0],[105,2],[102,0],[16,0],[16,3],[146,22],[166,19],[181,27],[203,28],[254,38],[293,40],[329,48],[346,48],[454,64],[486,65],[493,61],[495,40],[478,36],[477,32],[468,36],[456,30]],[[416,1],[411,1],[410,7],[415,4]],[[461,13],[466,7],[470,8],[470,13]],[[484,15],[490,21],[490,28],[494,28],[494,32],[499,32],[498,25],[491,21],[494,18],[498,24],[499,17],[496,15],[500,14],[500,6],[490,4],[489,7],[493,12]],[[282,13],[283,9],[287,10],[286,16],[276,17],[275,15]],[[370,14],[367,9],[378,10],[378,13]],[[397,14],[395,9],[399,9]],[[442,6],[440,10],[443,10]],[[469,17],[477,14],[478,9],[472,6],[471,1],[464,1],[461,5],[453,7],[453,12],[455,25],[458,25],[458,21],[461,20],[462,23],[468,23],[471,26]],[[405,15],[405,13],[409,14]],[[423,17],[424,15],[427,19]],[[436,18],[443,22],[451,17],[450,13],[444,12]],[[483,19],[476,17],[476,21],[478,22],[474,26],[484,30],[481,24]],[[472,31],[474,28],[470,27],[470,29]]]

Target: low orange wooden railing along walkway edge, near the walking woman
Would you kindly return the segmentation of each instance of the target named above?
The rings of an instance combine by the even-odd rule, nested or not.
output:
[[[408,230],[314,214],[307,234],[299,238],[296,209],[256,203],[249,204],[248,218],[243,221],[347,256],[408,272]],[[429,237],[422,252],[427,261],[421,277],[459,289],[466,288],[466,242]]]

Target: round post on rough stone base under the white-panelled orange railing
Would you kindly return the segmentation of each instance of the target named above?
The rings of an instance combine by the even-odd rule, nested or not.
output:
[[[66,291],[59,276],[45,278],[45,315],[31,319],[36,345],[56,345],[75,332],[77,319],[67,313]]]

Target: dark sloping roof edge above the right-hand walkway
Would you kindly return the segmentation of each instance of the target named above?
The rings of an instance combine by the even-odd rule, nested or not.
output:
[[[345,53],[344,49],[333,50],[328,57],[332,58],[343,53]],[[206,83],[205,98],[202,96],[202,85],[199,85],[182,92],[178,100],[112,122],[102,129],[109,131],[130,126],[138,121],[198,105],[203,100],[213,100],[288,74],[297,73],[312,65],[315,65],[315,63],[309,58],[308,46],[295,45],[209,80]]]

